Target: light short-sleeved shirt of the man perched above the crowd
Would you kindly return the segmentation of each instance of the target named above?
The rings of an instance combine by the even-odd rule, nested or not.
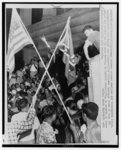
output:
[[[100,51],[100,32],[99,31],[94,31],[91,33],[87,40],[89,40],[92,44],[95,45],[95,47]]]

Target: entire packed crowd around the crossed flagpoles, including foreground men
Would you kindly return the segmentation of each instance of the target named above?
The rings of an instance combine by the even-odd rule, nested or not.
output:
[[[99,108],[96,103],[89,102],[88,97],[88,61],[80,47],[75,56],[77,78],[68,87],[71,91],[68,97],[64,96],[58,78],[51,76],[50,79],[48,74],[36,94],[45,71],[37,57],[8,78],[8,122],[25,121],[29,126],[27,116],[32,107],[35,110],[33,125],[17,133],[16,144],[101,142],[100,126],[96,121]]]

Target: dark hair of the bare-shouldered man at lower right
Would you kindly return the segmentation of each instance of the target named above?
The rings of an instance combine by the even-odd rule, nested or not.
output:
[[[96,120],[98,116],[98,105],[94,102],[84,103],[82,105],[83,113],[91,120]]]

